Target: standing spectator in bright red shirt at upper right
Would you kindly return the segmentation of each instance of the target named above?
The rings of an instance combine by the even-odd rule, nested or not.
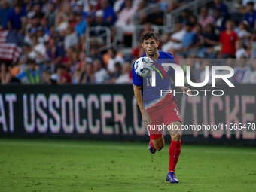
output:
[[[233,30],[234,22],[233,20],[227,20],[226,30],[221,32],[221,36],[219,39],[221,45],[221,51],[218,55],[219,58],[226,59],[227,57],[236,58],[236,40],[238,36],[236,32]]]

